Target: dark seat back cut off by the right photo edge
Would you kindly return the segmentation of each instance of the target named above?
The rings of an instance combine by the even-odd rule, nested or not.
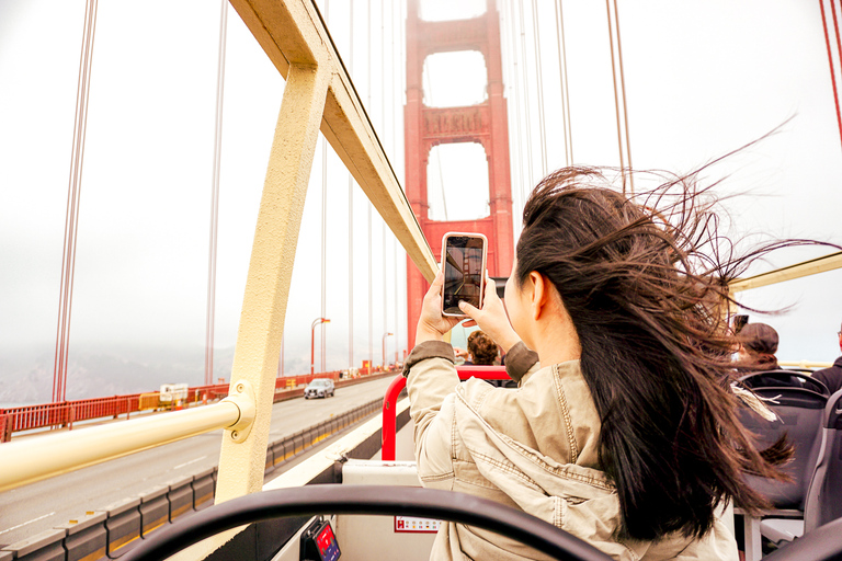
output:
[[[805,505],[805,531],[842,518],[842,390],[828,400],[821,446]]]

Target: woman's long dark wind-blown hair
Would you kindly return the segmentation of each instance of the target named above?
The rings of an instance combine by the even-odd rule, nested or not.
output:
[[[602,419],[600,463],[619,496],[619,538],[702,536],[722,501],[766,505],[743,473],[783,478],[737,417],[724,305],[751,260],[810,242],[735,256],[710,198],[685,176],[630,201],[599,170],[565,168],[523,210],[514,275],[519,284],[545,275],[572,319]]]

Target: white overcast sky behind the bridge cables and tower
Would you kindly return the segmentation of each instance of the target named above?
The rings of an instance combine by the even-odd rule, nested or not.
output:
[[[535,3],[537,18],[533,18]],[[355,0],[351,18],[350,1],[318,4],[402,179],[406,9],[389,0]],[[425,16],[456,16],[454,4],[432,1]],[[735,233],[842,243],[842,147],[818,2],[618,4],[635,168],[687,172],[789,119],[776,135],[710,169],[705,179],[727,176],[720,193],[747,193],[728,203]],[[100,0],[71,357],[79,348],[204,346],[219,5],[179,0],[140,8]],[[475,9],[468,1],[456,5]],[[605,7],[577,0],[564,2],[564,10],[574,162],[617,165]],[[548,1],[521,5],[505,0],[500,12],[519,216],[528,190],[567,163],[556,19]],[[33,356],[52,354],[55,345],[83,16],[83,0],[0,0],[0,348],[5,355],[22,350]],[[476,54],[445,56],[428,67],[429,104],[470,103],[485,95],[485,69]],[[283,79],[234,10],[229,10],[225,68],[215,342],[219,350],[236,342],[254,221],[284,90]],[[538,126],[541,114],[545,127]],[[453,146],[436,152],[429,173],[432,211],[443,217],[446,207],[451,219],[481,215],[488,199],[483,170],[470,163],[482,161],[481,151],[476,146]],[[323,168],[326,314],[332,320],[326,328],[326,366],[344,368],[349,362],[349,180],[331,150],[322,162],[320,140],[286,322],[286,368],[297,371],[309,364],[310,322],[321,313]],[[396,346],[401,352],[406,347],[406,262],[389,236],[384,243],[383,222],[375,214],[369,327],[368,206],[359,190],[352,207],[359,366],[369,353],[380,362],[386,332],[397,332],[387,339],[390,357]],[[764,266],[828,251],[789,251]],[[753,305],[795,305],[783,317],[752,318],[778,330],[780,358],[830,362],[838,356],[840,284],[842,274],[834,272],[746,295]],[[201,378],[187,381],[198,383]]]

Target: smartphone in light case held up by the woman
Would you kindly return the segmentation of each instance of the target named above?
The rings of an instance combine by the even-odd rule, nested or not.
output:
[[[481,233],[447,232],[442,238],[442,316],[465,318],[459,302],[482,307],[486,287],[486,248]]]

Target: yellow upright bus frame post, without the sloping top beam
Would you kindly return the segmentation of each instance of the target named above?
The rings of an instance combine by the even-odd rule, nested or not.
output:
[[[244,437],[240,432],[226,431],[219,457],[217,503],[263,486],[284,317],[329,78],[327,71],[314,66],[289,66],[263,185],[231,370],[231,386],[248,381],[254,388],[258,411],[254,425]]]

